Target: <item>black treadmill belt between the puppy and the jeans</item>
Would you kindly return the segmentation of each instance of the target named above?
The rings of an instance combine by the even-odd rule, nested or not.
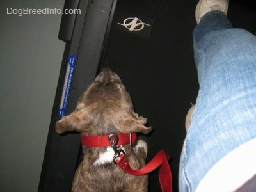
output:
[[[148,136],[141,135],[148,144],[147,160],[161,149],[170,154],[173,191],[178,190],[179,159],[186,134],[184,119],[198,92],[191,37],[195,2],[182,4],[118,1],[102,62],[102,67],[109,67],[120,76],[136,113],[147,118],[148,125],[154,128]],[[185,14],[192,17],[185,18]],[[131,18],[127,23],[134,18],[141,20],[138,23],[152,21],[150,36],[129,31],[125,26],[123,30],[117,28],[124,15]],[[149,191],[161,191],[158,171],[150,173]]]

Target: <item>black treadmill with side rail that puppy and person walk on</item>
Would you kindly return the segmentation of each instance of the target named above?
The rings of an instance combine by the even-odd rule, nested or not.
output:
[[[184,120],[198,93],[191,35],[197,2],[184,1],[181,6],[170,0],[65,1],[64,9],[79,9],[81,14],[61,19],[58,38],[66,45],[38,191],[70,191],[81,162],[80,134],[59,135],[55,123],[74,111],[80,95],[104,67],[120,76],[136,113],[154,129],[138,135],[147,142],[147,162],[162,149],[170,154],[173,191],[178,191]],[[255,33],[255,7],[248,12],[241,2],[233,2],[228,14],[234,26],[241,24],[237,12],[246,12],[243,17],[250,17],[250,22],[245,26]],[[148,191],[161,191],[158,171],[149,174]]]

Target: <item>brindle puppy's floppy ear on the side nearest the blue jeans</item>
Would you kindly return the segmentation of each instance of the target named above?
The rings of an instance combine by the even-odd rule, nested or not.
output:
[[[143,124],[141,124],[141,120],[137,120],[135,118],[129,118],[128,120],[125,120],[124,127],[127,127],[126,130],[129,130],[129,132],[142,132],[144,134],[148,134],[152,130],[152,127],[145,127]]]

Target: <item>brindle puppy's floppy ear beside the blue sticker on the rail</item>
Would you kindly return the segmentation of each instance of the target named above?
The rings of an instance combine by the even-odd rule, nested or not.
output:
[[[86,127],[86,119],[81,119],[77,114],[77,111],[74,111],[72,113],[70,113],[70,115],[68,116],[64,116],[63,118],[61,118],[61,120],[59,120],[58,122],[56,122],[55,125],[55,129],[56,132],[63,133],[65,131],[78,131],[81,132],[81,129],[83,127]]]

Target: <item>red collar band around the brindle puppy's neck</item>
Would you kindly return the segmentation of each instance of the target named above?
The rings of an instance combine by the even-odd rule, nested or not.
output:
[[[136,133],[120,133],[116,134],[119,138],[118,145],[127,145],[135,143],[137,140]],[[103,135],[103,136],[86,136],[84,134],[81,134],[81,143],[84,146],[87,147],[108,147],[111,144],[108,140],[109,135]]]

